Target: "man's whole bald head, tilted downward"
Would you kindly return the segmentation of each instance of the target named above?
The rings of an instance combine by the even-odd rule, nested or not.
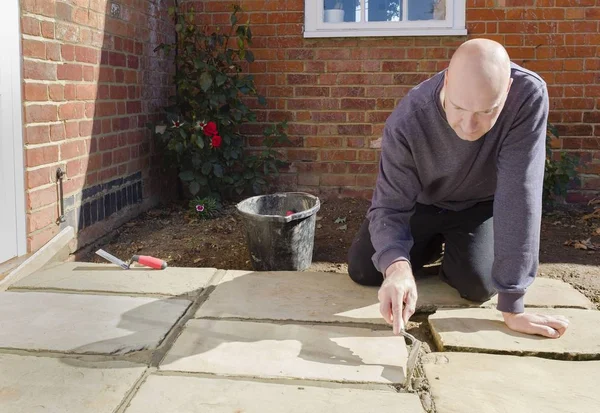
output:
[[[502,45],[487,39],[463,43],[450,60],[441,93],[456,134],[475,141],[492,129],[511,84],[510,58]]]

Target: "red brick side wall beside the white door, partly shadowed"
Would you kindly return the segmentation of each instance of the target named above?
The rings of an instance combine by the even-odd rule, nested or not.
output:
[[[28,248],[62,226],[79,245],[154,202],[145,123],[165,102],[167,1],[21,0]],[[63,182],[66,222],[57,224]]]

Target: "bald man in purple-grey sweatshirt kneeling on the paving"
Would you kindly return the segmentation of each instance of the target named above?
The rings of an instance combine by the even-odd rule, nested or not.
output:
[[[515,331],[565,332],[565,317],[523,305],[538,268],[548,106],[540,76],[513,64],[500,44],[475,39],[390,115],[348,272],[381,286],[381,314],[395,334],[415,311],[414,272],[439,258],[442,244],[440,276],[462,297],[497,294]]]

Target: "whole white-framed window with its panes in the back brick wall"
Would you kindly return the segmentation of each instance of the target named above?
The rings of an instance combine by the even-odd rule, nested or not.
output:
[[[305,0],[304,37],[466,35],[466,0]]]

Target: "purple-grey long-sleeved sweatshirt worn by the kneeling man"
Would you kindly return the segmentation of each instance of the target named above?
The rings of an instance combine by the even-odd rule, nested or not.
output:
[[[540,76],[511,66],[506,104],[474,142],[461,140],[446,121],[439,99],[444,72],[402,99],[385,124],[367,217],[373,263],[384,272],[394,261],[410,261],[416,202],[458,211],[493,199],[497,309],[518,313],[538,268],[549,102]]]

